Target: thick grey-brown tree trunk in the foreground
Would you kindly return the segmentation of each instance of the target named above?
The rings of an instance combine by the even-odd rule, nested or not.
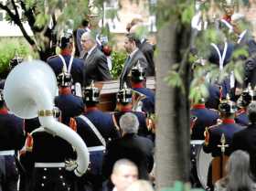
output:
[[[160,3],[159,1],[158,3]],[[178,0],[163,0],[165,5],[177,5]],[[158,10],[159,11],[159,10]],[[187,67],[181,78],[186,92],[170,87],[165,82],[168,71],[180,62],[180,49],[187,40],[181,40],[185,31],[176,16],[158,28],[156,67],[156,188],[172,186],[176,180],[188,181],[189,177],[189,128],[187,101]],[[162,21],[163,22],[163,21]]]

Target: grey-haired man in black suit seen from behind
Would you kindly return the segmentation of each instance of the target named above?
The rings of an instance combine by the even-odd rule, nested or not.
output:
[[[133,113],[123,114],[120,127],[123,137],[107,145],[103,175],[110,177],[113,164],[119,159],[126,158],[138,166],[140,179],[148,179],[154,164],[154,144],[149,139],[137,135],[139,122]]]

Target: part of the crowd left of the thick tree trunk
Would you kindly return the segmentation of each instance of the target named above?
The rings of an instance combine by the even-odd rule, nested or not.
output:
[[[75,148],[40,127],[38,117],[20,119],[11,114],[4,90],[0,91],[0,191],[124,191],[130,186],[131,190],[153,190],[149,180],[153,178],[155,134],[147,117],[155,112],[155,92],[145,84],[147,76],[155,75],[154,50],[145,37],[135,35],[135,27],[143,25],[142,20],[135,20],[124,42],[128,56],[116,101],[112,101],[115,111],[98,107],[101,90],[95,83],[112,80],[111,63],[100,32],[89,27],[90,23],[84,22],[75,37],[64,32],[59,54],[47,59],[59,89],[51,113],[86,144],[90,164],[84,175],[73,172],[78,166]],[[11,60],[13,68],[20,62],[17,56]],[[5,81],[1,86],[4,89]],[[144,99],[137,101],[138,95]]]

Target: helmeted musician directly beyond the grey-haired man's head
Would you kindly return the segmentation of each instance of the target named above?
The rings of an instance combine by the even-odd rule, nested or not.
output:
[[[116,108],[118,111],[114,111],[112,113],[112,120],[117,129],[120,130],[120,133],[122,134],[119,123],[120,118],[126,112],[133,112],[137,116],[140,123],[138,134],[141,136],[150,136],[151,133],[146,125],[145,113],[142,111],[133,111],[133,90],[127,88],[126,84],[124,84],[123,89],[117,92],[116,98]]]

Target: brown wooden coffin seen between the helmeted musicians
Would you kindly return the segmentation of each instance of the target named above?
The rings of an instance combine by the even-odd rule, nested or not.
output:
[[[95,86],[101,90],[100,103],[98,107],[101,111],[114,111],[116,105],[116,93],[119,90],[119,80],[98,81]],[[155,90],[155,77],[146,79],[146,88]]]

